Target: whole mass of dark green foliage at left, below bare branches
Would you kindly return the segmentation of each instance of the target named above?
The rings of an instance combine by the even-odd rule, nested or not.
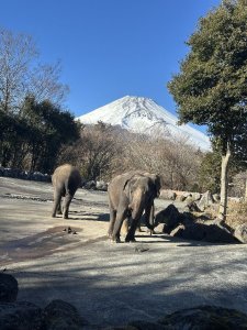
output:
[[[63,144],[79,139],[79,125],[68,111],[49,101],[26,97],[18,114],[0,111],[3,166],[52,173]]]

